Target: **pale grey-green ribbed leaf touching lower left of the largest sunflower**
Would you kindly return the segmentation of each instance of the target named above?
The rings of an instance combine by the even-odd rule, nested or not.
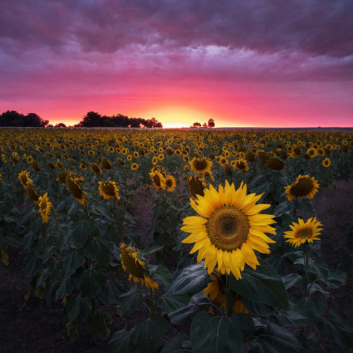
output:
[[[207,271],[203,268],[203,261],[190,265],[174,280],[168,289],[172,293],[196,293],[206,288],[210,281]]]

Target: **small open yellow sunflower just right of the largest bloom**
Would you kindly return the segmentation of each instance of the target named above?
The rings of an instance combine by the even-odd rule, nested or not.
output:
[[[292,230],[288,230],[283,234],[283,236],[288,239],[286,242],[290,245],[298,248],[299,245],[305,243],[312,243],[314,240],[320,240],[319,235],[323,228],[322,223],[316,220],[316,217],[308,219],[305,223],[303,219],[298,219],[298,223],[293,222],[290,225]]]

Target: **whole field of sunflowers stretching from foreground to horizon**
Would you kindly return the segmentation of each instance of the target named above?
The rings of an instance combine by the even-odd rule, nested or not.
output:
[[[84,324],[112,353],[353,347],[329,305],[352,281],[353,223],[330,268],[312,203],[351,180],[353,134],[2,128],[0,142],[0,269],[17,248],[23,300],[59,303],[72,341]]]

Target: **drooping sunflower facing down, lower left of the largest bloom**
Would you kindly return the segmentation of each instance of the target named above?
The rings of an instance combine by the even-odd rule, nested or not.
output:
[[[124,243],[121,243],[120,249],[121,265],[125,271],[129,272],[130,281],[133,280],[135,283],[142,283],[148,288],[158,290],[158,283],[148,276],[146,263],[138,259],[139,250],[127,247]]]

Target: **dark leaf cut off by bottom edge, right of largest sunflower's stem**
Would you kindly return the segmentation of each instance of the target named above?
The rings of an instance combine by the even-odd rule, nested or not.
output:
[[[301,342],[288,331],[281,327],[268,323],[268,330],[259,330],[256,335],[258,350],[251,352],[261,353],[298,353],[303,349]]]

